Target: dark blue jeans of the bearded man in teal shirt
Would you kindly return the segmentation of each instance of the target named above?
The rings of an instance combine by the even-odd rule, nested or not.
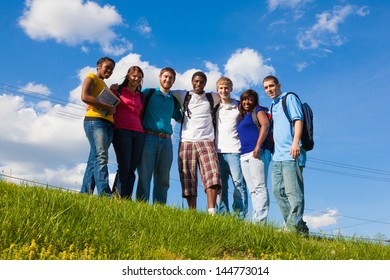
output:
[[[138,166],[136,193],[138,200],[149,201],[150,182],[153,176],[153,203],[166,204],[172,161],[171,139],[146,134],[141,162]]]

